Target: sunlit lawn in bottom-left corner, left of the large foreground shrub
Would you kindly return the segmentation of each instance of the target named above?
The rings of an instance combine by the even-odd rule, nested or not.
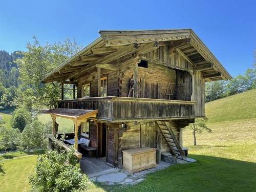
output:
[[[34,172],[37,156],[30,155],[4,161],[5,176],[0,176],[0,191],[30,191],[28,176]]]

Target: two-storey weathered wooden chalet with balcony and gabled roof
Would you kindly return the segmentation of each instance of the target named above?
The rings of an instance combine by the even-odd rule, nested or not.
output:
[[[72,119],[77,156],[79,138],[88,138],[112,166],[124,163],[122,151],[142,147],[184,159],[182,128],[205,116],[205,82],[231,76],[191,29],[99,34],[42,80],[62,83],[62,99],[49,111],[53,135],[56,116]],[[63,100],[65,83],[76,98]]]

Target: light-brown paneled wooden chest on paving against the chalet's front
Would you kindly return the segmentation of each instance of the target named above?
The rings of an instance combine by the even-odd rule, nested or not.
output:
[[[123,168],[130,173],[156,167],[156,149],[150,147],[123,151]]]

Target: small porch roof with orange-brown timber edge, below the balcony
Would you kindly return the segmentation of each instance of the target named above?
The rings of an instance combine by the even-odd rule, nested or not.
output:
[[[78,110],[78,109],[53,109],[47,111],[48,114],[56,115],[63,118],[82,120],[89,117],[96,117],[98,110]]]

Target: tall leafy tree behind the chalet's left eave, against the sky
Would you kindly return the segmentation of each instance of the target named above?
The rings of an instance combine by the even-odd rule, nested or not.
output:
[[[41,84],[40,81],[76,53],[80,47],[75,40],[70,41],[70,39],[53,45],[47,43],[45,46],[40,45],[35,37],[33,39],[33,44],[27,44],[28,51],[24,57],[16,60],[21,84],[15,103],[18,106],[26,106],[28,109],[42,110],[46,107],[51,109],[55,100],[59,98],[60,84]]]

